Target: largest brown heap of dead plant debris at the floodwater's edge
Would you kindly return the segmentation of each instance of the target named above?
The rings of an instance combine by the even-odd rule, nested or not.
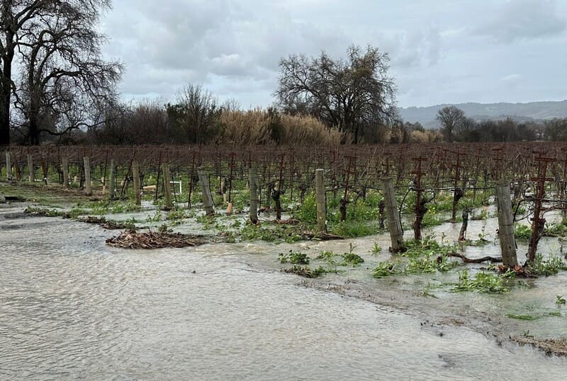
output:
[[[118,237],[107,239],[106,244],[123,249],[162,249],[202,245],[206,244],[206,240],[202,236],[181,233],[138,233],[135,230],[126,230]]]

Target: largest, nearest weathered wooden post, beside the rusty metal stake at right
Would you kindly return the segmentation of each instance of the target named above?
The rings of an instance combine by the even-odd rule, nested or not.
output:
[[[498,198],[498,232],[502,261],[505,266],[514,267],[518,264],[518,259],[514,237],[514,215],[510,201],[510,183],[505,180],[496,183],[496,198]]]

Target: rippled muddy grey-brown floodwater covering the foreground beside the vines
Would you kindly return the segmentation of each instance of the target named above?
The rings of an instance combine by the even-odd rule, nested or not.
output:
[[[22,210],[0,207],[1,380],[565,379],[566,358],[494,339],[482,332],[490,319],[473,322],[483,311],[541,309],[548,298],[553,308],[564,275],[537,280],[545,293],[535,284],[418,298],[429,279],[394,284],[366,267],[347,280],[281,273],[275,258],[291,245],[115,249],[104,241],[117,232]],[[381,235],[296,247],[341,251],[354,242],[369,252],[376,240],[387,244]],[[443,323],[452,312],[461,324]],[[566,334],[565,317],[525,324],[532,334]],[[506,335],[505,325],[495,333]],[[510,335],[518,329],[526,326]]]

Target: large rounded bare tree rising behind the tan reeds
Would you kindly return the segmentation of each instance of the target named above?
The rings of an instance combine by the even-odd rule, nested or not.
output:
[[[347,59],[291,55],[279,63],[276,96],[284,112],[308,113],[359,142],[364,127],[395,119],[395,84],[388,55],[375,47],[347,49]]]

